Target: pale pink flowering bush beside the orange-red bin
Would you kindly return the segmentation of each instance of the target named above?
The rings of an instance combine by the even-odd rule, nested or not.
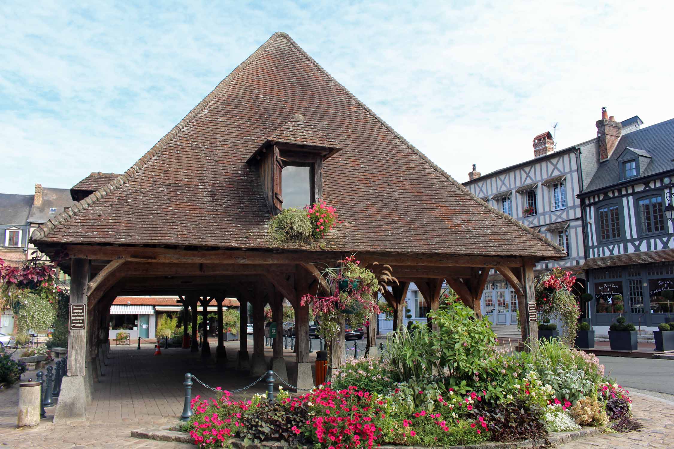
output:
[[[359,390],[384,394],[390,390],[392,380],[386,364],[372,358],[346,359],[332,370],[330,386],[336,390],[356,386]]]

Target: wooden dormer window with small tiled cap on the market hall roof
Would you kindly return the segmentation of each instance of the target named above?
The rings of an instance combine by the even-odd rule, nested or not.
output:
[[[333,141],[299,114],[274,132],[248,160],[259,168],[270,213],[320,201],[323,162],[337,151]]]

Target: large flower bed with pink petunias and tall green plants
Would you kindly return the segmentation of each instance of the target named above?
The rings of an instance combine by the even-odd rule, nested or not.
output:
[[[426,326],[396,331],[381,360],[351,360],[299,396],[275,403],[192,401],[187,425],[204,448],[286,442],[319,449],[380,445],[466,446],[547,438],[631,415],[629,393],[605,378],[594,355],[561,341],[531,352],[495,347],[489,322],[460,302],[431,312]],[[624,427],[624,426],[623,426]]]

